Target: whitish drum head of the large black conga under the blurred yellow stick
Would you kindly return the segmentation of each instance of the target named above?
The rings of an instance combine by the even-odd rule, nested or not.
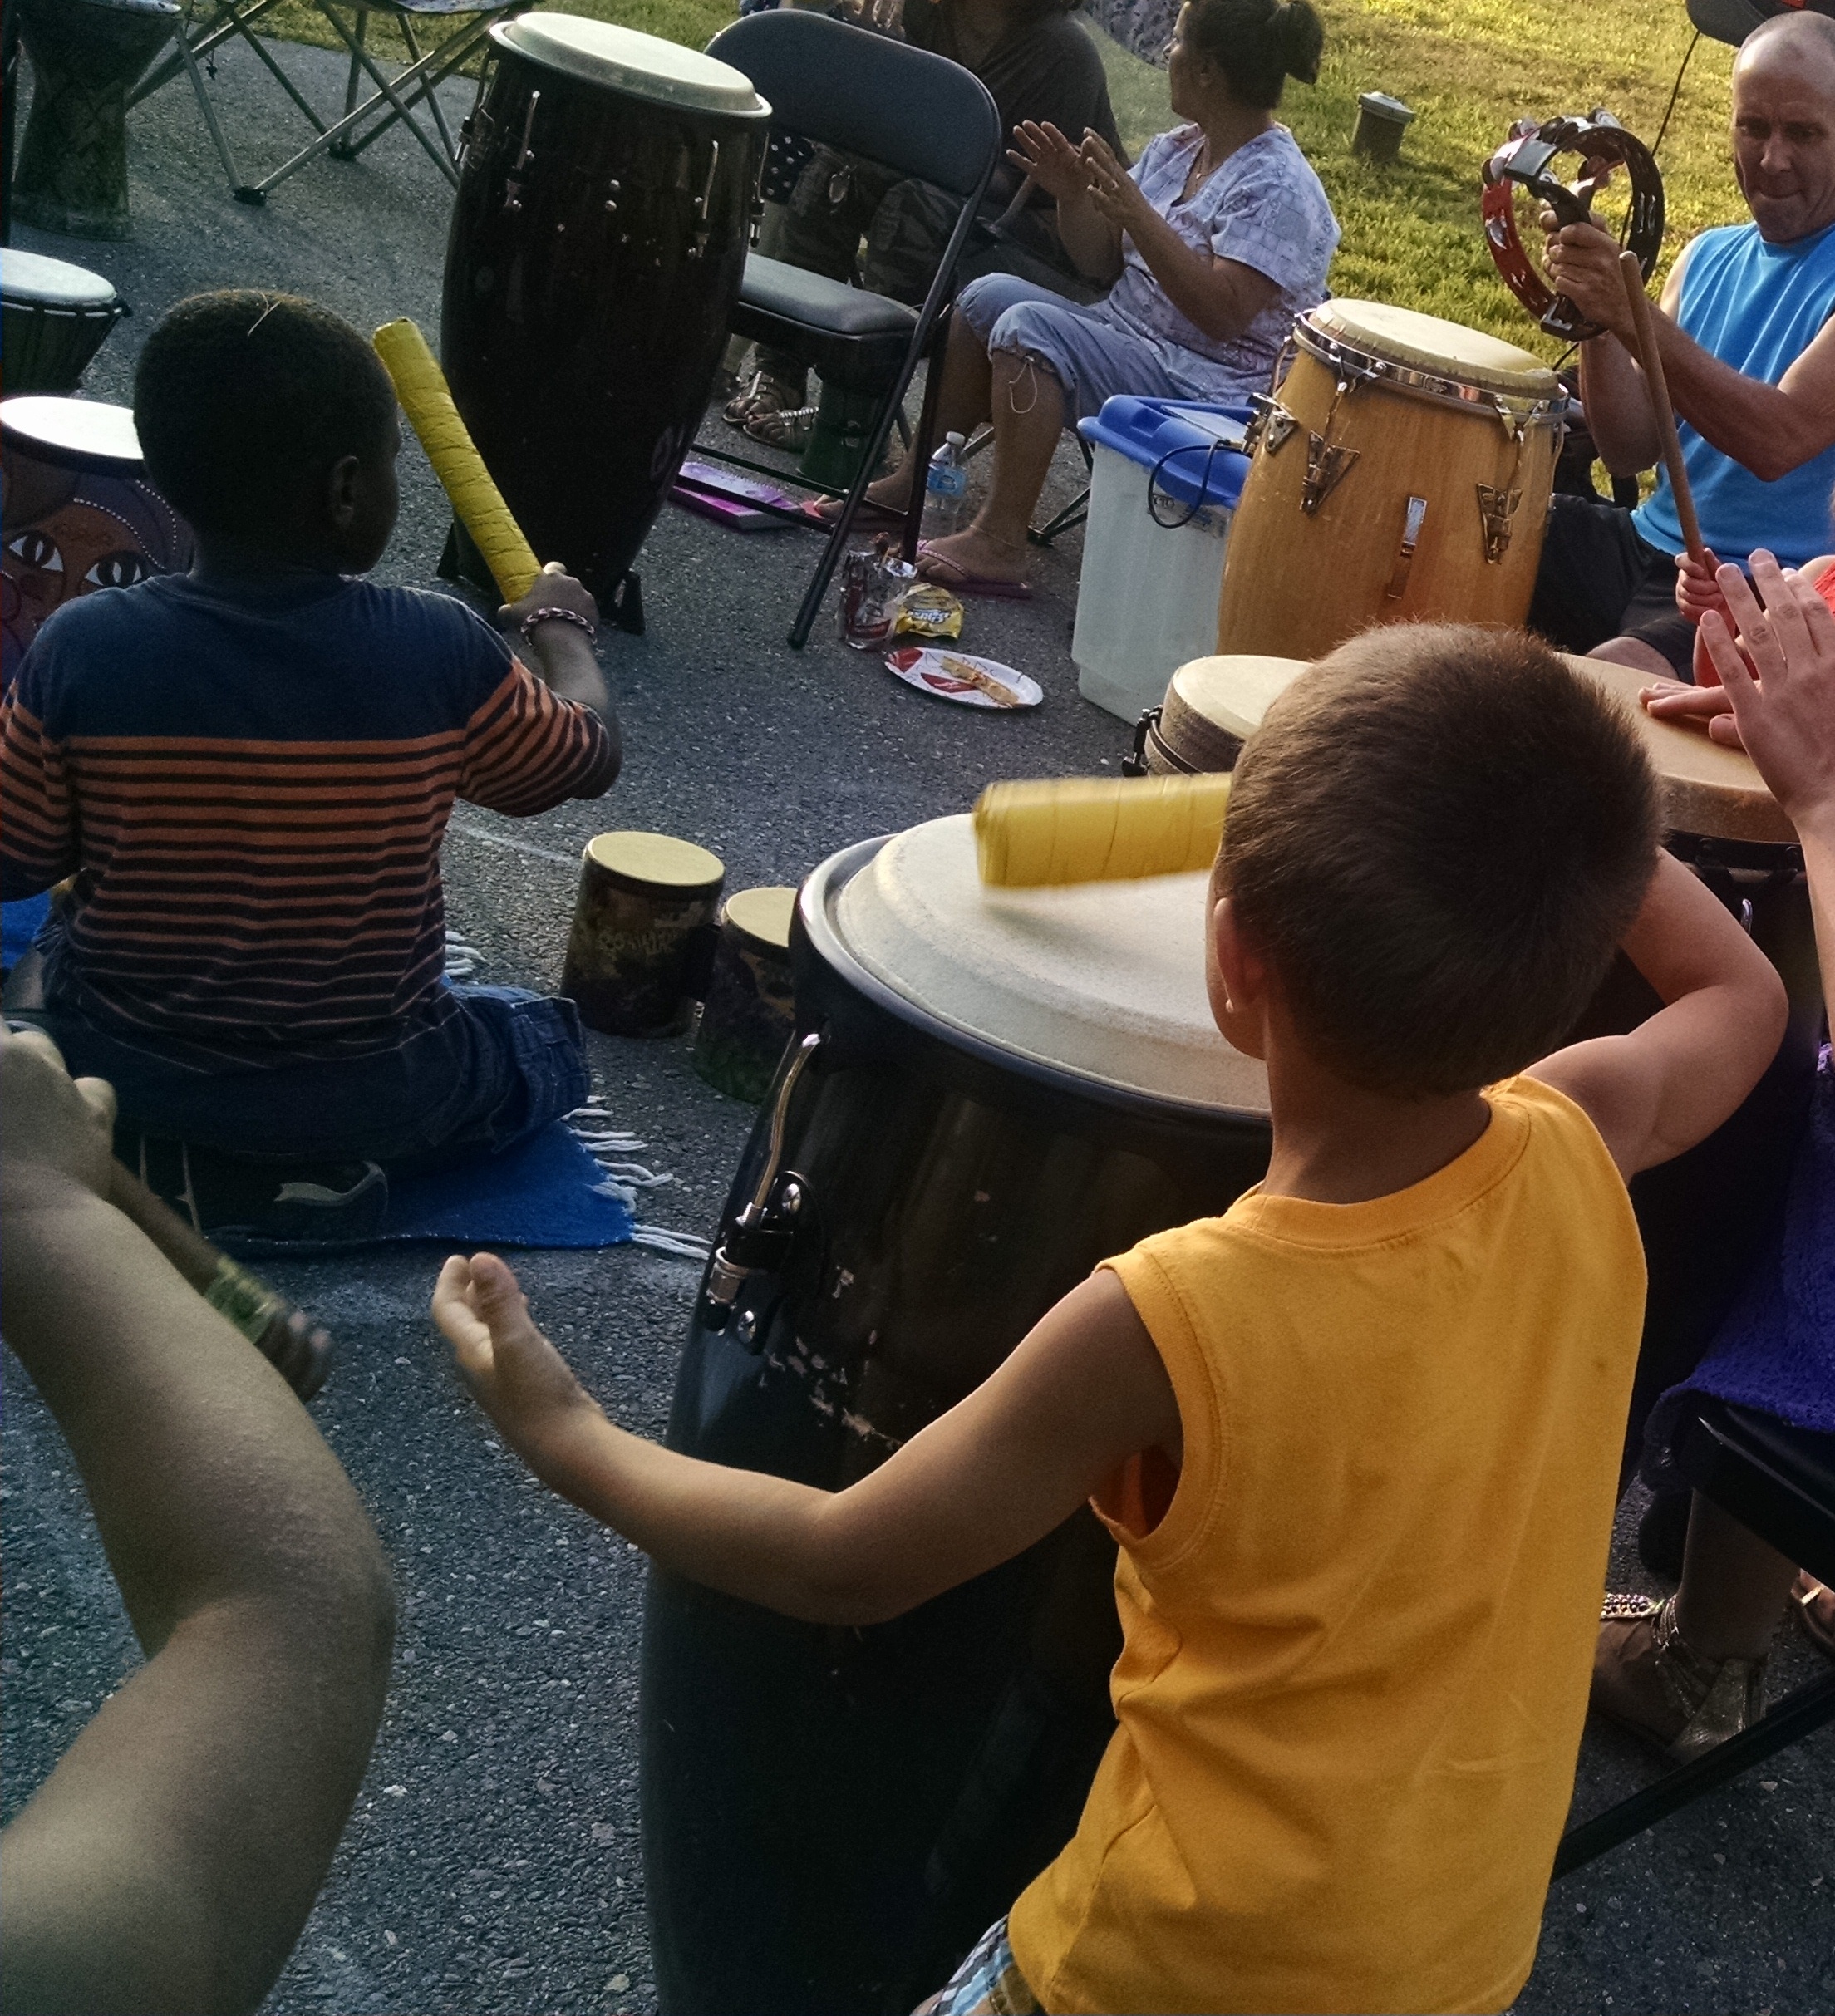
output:
[[[899,833],[841,891],[835,929],[877,980],[1018,1056],[1216,1113],[1268,1111],[1204,992],[1206,875],[990,889],[968,816]]]

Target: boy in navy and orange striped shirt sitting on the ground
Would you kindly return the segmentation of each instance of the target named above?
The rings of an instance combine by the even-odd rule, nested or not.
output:
[[[42,1022],[123,1123],[268,1163],[502,1149],[585,1099],[571,1002],[444,974],[454,798],[526,816],[619,770],[593,597],[502,621],[363,577],[395,524],[395,393],[307,300],[179,302],[135,373],[190,575],[38,633],[0,706],[6,899],[71,879]]]

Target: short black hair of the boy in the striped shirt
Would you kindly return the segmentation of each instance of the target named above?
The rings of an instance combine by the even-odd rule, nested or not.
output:
[[[375,351],[294,294],[194,294],[133,373],[147,474],[202,532],[286,536],[333,464],[387,454],[393,417]]]

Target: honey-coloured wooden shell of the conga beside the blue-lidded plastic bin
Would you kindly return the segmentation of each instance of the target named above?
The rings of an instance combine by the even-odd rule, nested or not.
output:
[[[1305,347],[1278,385],[1297,427],[1262,429],[1230,528],[1218,651],[1323,657],[1369,623],[1522,623],[1543,554],[1561,423],[1518,437],[1488,401],[1349,379]],[[1337,399],[1337,411],[1333,401]],[[1357,450],[1315,512],[1303,508],[1309,433]],[[1478,486],[1522,492],[1498,560],[1486,558]],[[1403,560],[1410,498],[1428,510]]]

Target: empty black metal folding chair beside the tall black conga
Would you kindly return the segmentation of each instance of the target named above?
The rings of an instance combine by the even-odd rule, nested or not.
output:
[[[770,103],[772,125],[843,153],[865,155],[877,167],[928,181],[962,204],[920,308],[758,252],[746,260],[732,310],[734,335],[790,351],[827,383],[873,393],[881,401],[859,474],[790,625],[790,645],[801,649],[885,454],[918,359],[954,290],[956,262],[1000,159],[1000,115],[972,71],[825,14],[790,8],[746,14],[714,36],[708,54],[752,81]],[[932,369],[911,442],[918,468],[930,460],[938,377]],[[736,468],[764,468],[720,450],[702,448],[698,454]],[[764,474],[782,480],[782,470],[764,468]],[[918,512],[922,494],[913,492],[907,542]]]

